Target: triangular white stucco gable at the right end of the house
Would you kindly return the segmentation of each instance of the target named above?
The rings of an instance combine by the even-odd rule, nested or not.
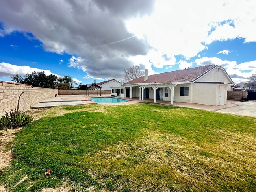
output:
[[[217,71],[218,69],[218,71]],[[214,68],[201,78],[197,80],[197,82],[224,82],[224,83],[232,83],[230,79],[226,76],[226,73],[222,68]]]

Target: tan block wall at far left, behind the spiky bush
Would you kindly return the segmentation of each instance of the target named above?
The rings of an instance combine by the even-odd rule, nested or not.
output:
[[[21,96],[20,94],[24,92]],[[32,85],[0,81],[0,114],[17,108],[20,96],[20,110],[28,110],[31,106],[58,94],[57,89],[32,87]]]

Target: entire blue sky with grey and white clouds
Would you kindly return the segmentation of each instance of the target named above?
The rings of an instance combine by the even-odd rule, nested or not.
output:
[[[87,84],[219,65],[256,74],[256,0],[2,0],[0,81],[33,71]]]

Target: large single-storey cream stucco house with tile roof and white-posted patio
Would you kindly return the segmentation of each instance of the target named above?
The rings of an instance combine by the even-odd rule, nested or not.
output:
[[[227,90],[234,85],[226,70],[218,65],[206,65],[154,74],[134,79],[119,87],[112,87],[112,94],[122,98],[137,97],[173,102],[224,105]]]

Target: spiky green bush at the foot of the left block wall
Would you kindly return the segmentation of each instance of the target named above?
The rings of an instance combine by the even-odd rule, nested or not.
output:
[[[34,120],[28,113],[19,111],[18,109],[11,109],[10,113],[7,111],[4,112],[5,114],[2,114],[0,117],[0,130],[24,127]]]

